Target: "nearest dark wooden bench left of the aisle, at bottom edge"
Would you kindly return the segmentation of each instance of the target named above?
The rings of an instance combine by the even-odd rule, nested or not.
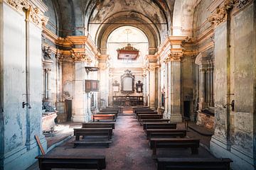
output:
[[[105,169],[105,156],[53,156],[39,155],[38,159],[40,170],[49,169]]]

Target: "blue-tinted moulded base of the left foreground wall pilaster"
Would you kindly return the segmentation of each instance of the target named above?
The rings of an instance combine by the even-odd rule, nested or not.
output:
[[[40,137],[41,145],[45,152],[47,152],[47,143],[46,138],[42,135]],[[41,154],[40,149],[36,143],[36,140],[28,147],[23,146],[17,149],[14,149],[12,152],[4,154],[1,162],[3,162],[3,166],[0,166],[0,169],[9,170],[9,169],[27,169],[29,166],[34,164],[37,159],[36,156]],[[26,161],[24,161],[26,160]]]

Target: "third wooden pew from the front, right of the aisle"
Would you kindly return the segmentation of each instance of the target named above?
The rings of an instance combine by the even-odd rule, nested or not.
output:
[[[147,129],[146,138],[156,138],[156,137],[186,137],[186,130],[176,130],[176,129]]]

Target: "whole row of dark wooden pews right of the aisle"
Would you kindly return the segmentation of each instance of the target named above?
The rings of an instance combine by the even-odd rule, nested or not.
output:
[[[143,125],[158,170],[230,169],[230,159],[156,157],[158,148],[191,148],[191,154],[198,154],[200,140],[188,138],[185,129],[177,129],[176,123],[169,123],[150,108],[134,108],[134,113]]]

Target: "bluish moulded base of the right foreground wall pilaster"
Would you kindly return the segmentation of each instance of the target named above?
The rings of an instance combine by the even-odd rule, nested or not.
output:
[[[210,151],[215,155],[215,157],[232,159],[233,163],[231,163],[230,166],[234,170],[254,169],[252,155],[242,152],[241,149],[237,149],[234,146],[231,146],[227,142],[220,140],[214,135],[210,140]]]

